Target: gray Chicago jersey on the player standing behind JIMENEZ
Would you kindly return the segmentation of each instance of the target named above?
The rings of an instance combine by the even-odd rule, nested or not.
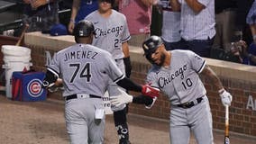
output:
[[[109,51],[114,59],[123,58],[122,43],[131,39],[125,16],[112,10],[110,17],[104,18],[94,11],[85,20],[93,22],[95,26],[93,45]]]

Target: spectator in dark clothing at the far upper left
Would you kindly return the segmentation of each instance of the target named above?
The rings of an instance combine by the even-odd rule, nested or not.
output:
[[[49,33],[52,25],[59,23],[59,0],[23,0],[23,23],[27,31]]]

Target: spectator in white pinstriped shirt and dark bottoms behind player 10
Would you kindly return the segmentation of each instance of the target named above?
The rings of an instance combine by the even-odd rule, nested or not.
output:
[[[172,9],[180,11],[180,49],[190,49],[201,57],[210,57],[215,37],[214,0],[170,0]]]

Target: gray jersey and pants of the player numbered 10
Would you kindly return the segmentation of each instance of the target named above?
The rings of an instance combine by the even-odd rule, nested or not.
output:
[[[206,60],[190,50],[171,50],[169,67],[153,66],[147,76],[147,82],[167,94],[172,104],[169,114],[172,144],[189,143],[190,130],[198,144],[213,144],[212,114],[205,86],[198,76],[205,66]],[[202,102],[191,108],[174,106],[194,102],[199,97],[203,97]]]

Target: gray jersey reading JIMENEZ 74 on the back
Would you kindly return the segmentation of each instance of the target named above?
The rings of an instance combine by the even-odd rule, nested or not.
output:
[[[103,96],[109,78],[117,81],[124,76],[109,52],[88,44],[77,44],[60,50],[53,56],[48,69],[62,77],[63,96]]]

